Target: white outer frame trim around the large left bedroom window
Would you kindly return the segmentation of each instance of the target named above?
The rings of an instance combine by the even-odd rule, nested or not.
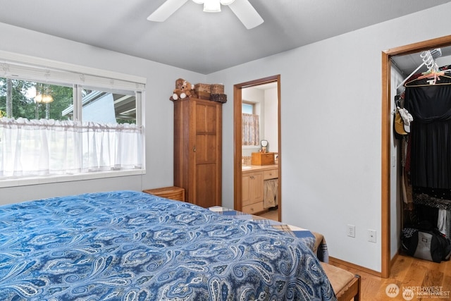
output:
[[[62,80],[58,75],[73,77],[74,80],[64,79],[65,83],[73,84],[74,94],[78,93],[81,96],[80,85],[89,85],[99,88],[113,87],[114,90],[129,90],[135,91],[136,97],[136,124],[142,126],[142,168],[121,170],[121,171],[97,171],[94,173],[78,173],[75,175],[55,175],[55,176],[30,176],[23,178],[4,178],[0,180],[0,188],[17,187],[23,185],[37,185],[48,183],[61,183],[76,180],[93,180],[100,178],[116,178],[123,176],[137,176],[146,173],[146,156],[145,156],[145,118],[144,118],[144,99],[145,99],[145,85],[147,78],[136,75],[128,75],[124,73],[116,73],[109,70],[102,70],[91,68],[87,66],[79,66],[71,63],[63,63],[60,61],[52,61],[49,59],[42,59],[35,56],[27,56],[23,54],[16,54],[8,51],[0,50],[0,70],[4,70],[4,74],[8,72],[8,64],[14,66],[24,66],[24,68],[41,68],[42,73],[36,73],[36,76],[30,74],[30,78],[18,78],[21,80],[48,80],[57,81]],[[49,78],[48,70],[54,72],[57,78]],[[61,71],[61,73],[60,73]],[[7,77],[7,76],[2,76]],[[85,82],[88,83],[85,83]],[[98,82],[97,82],[98,81]],[[78,102],[74,102],[74,110],[81,113],[82,107]]]

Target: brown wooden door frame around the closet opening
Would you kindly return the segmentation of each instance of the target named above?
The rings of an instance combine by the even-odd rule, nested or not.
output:
[[[391,97],[390,80],[391,80],[391,57],[404,54],[414,54],[428,49],[439,47],[447,47],[451,45],[451,35],[438,37],[436,39],[428,39],[423,42],[408,44],[401,47],[395,47],[382,51],[382,152],[381,152],[381,231],[382,231],[382,266],[381,276],[388,278],[391,268],[391,250],[390,250],[390,136],[392,133],[392,125],[390,123],[391,116]]]

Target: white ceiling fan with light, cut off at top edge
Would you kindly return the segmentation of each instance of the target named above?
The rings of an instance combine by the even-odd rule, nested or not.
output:
[[[156,8],[147,20],[163,22],[188,0],[166,0],[159,8]],[[238,19],[249,30],[263,23],[263,18],[257,13],[249,0],[192,0],[197,4],[204,4],[204,12],[217,13],[221,11],[221,5],[228,6]]]

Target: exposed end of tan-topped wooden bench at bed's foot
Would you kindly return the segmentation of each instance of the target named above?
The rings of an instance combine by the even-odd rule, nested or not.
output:
[[[321,262],[338,301],[360,301],[360,276]]]

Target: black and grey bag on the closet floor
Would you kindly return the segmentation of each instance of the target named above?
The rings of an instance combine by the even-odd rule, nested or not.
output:
[[[402,249],[410,256],[431,262],[450,259],[451,242],[437,229],[402,229]]]

